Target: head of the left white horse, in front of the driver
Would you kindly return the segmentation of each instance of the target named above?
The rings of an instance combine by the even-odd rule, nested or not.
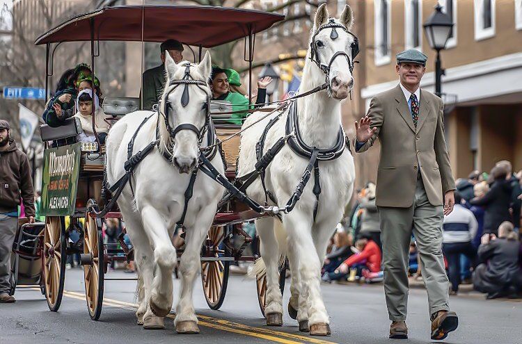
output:
[[[189,173],[198,163],[209,121],[210,54],[207,51],[195,65],[187,61],[176,64],[167,52],[165,71],[166,85],[160,105],[164,118],[160,126],[161,146],[172,149],[172,163],[180,173]]]

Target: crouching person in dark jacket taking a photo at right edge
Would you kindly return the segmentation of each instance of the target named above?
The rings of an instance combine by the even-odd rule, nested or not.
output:
[[[522,287],[519,251],[520,243],[511,222],[500,224],[498,238],[484,234],[478,249],[482,264],[473,272],[475,290],[488,293],[488,299],[516,294]]]

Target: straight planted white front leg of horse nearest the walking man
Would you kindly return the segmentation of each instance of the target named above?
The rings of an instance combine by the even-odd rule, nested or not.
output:
[[[300,292],[307,301],[310,334],[313,336],[329,336],[330,320],[322,300],[319,283],[321,263],[319,263],[319,256],[317,256],[311,234],[310,216],[303,213],[299,208],[294,208],[294,211],[285,215],[283,220],[289,240],[295,245],[295,252],[299,257],[297,260],[299,261],[299,279],[301,280]]]

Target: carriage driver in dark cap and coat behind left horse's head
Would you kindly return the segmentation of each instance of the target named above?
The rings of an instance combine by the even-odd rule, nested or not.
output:
[[[152,110],[157,104],[165,87],[165,51],[171,54],[175,63],[183,60],[183,44],[177,40],[166,40],[159,46],[161,50],[161,65],[143,72],[143,110]]]

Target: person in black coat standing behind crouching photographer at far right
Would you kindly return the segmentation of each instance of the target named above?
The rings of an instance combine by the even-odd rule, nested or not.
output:
[[[512,188],[506,180],[507,171],[501,166],[495,166],[491,170],[493,183],[489,191],[480,198],[470,199],[473,206],[484,206],[484,234],[498,234],[498,226],[504,221],[512,221],[509,213]]]

